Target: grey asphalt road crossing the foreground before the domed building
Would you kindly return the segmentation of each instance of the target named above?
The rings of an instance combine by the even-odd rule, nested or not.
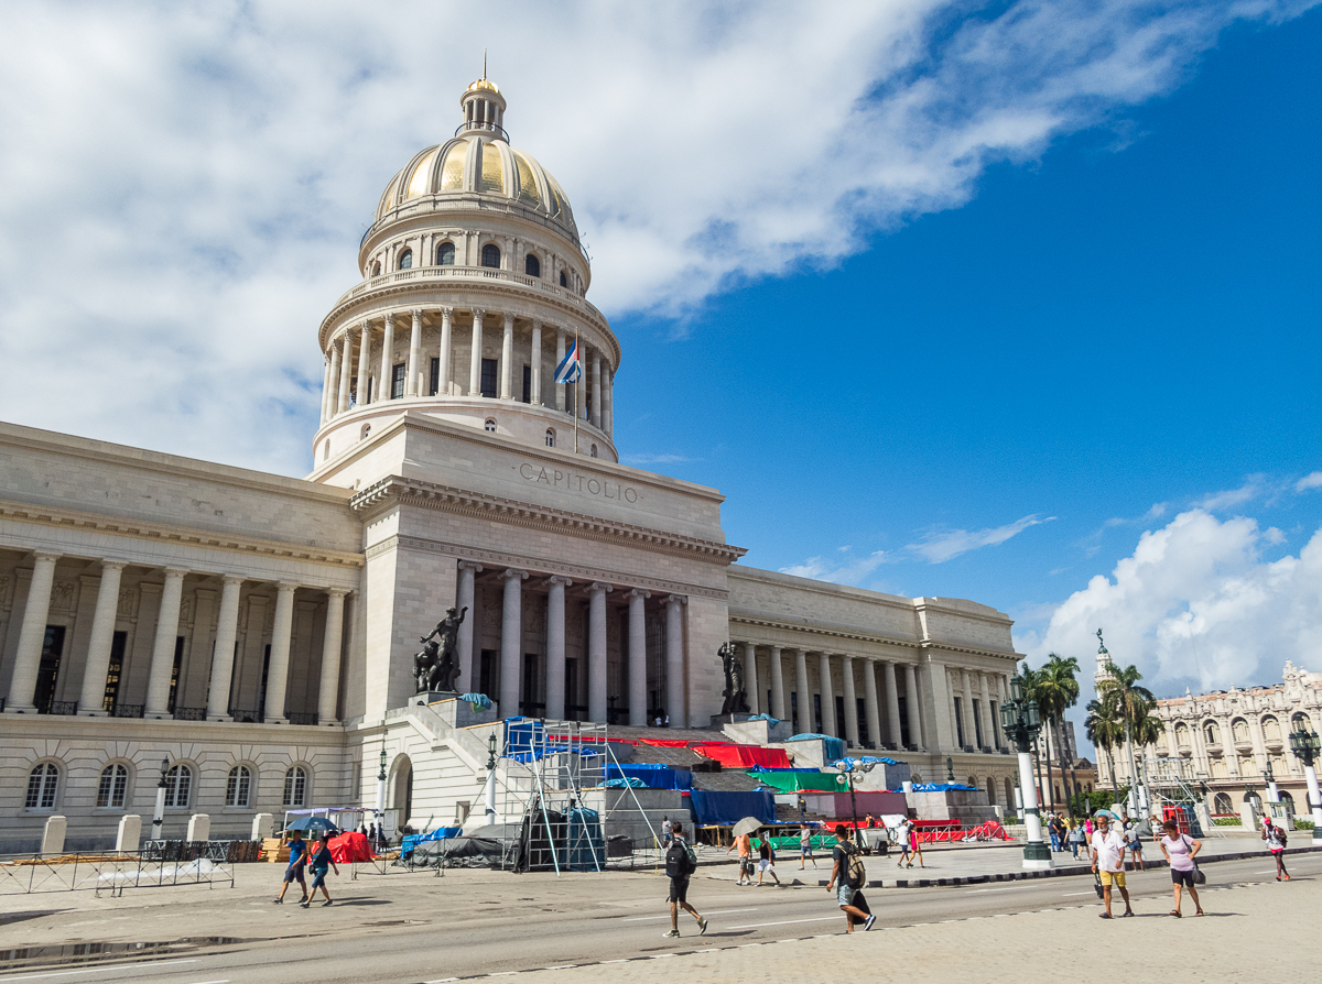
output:
[[[1297,880],[1322,874],[1322,853],[1292,856],[1288,864]],[[820,870],[829,874],[829,869]],[[1274,874],[1266,857],[1222,861],[1206,870],[1207,889],[1270,882]],[[783,874],[797,876],[798,872],[787,869]],[[804,873],[805,880],[812,876],[812,869]],[[735,889],[726,881],[694,878],[690,901],[709,917],[711,927],[705,936],[698,936],[693,918],[681,914],[682,938],[664,939],[669,929],[664,878],[629,876],[627,881],[609,884],[594,882],[596,877],[600,876],[562,885],[547,882],[520,897],[493,897],[521,892],[518,882],[505,881],[497,890],[481,892],[460,889],[453,884],[457,880],[446,889],[438,880],[438,897],[444,892],[453,898],[444,906],[426,906],[415,918],[399,918],[399,906],[379,897],[379,885],[360,878],[340,884],[336,906],[352,909],[361,918],[344,922],[344,913],[337,913],[333,929],[317,919],[316,907],[303,911],[290,905],[297,899],[296,892],[280,909],[271,906],[264,896],[238,901],[217,898],[215,902],[226,909],[241,905],[250,921],[263,917],[280,938],[250,936],[242,943],[202,947],[159,960],[119,958],[103,966],[32,967],[0,975],[0,984],[361,984],[364,980],[431,984],[843,930],[843,915],[833,896],[822,888]],[[1130,881],[1136,911],[1141,917],[1163,917],[1170,909],[1169,873],[1132,874]],[[1292,886],[1282,884],[1280,889],[1289,892]],[[1233,890],[1208,892],[1204,907],[1227,910],[1235,905],[1233,896]],[[871,889],[869,901],[878,917],[874,932],[1097,903],[1091,876],[986,888]],[[416,903],[412,907],[422,909]],[[286,918],[291,909],[297,917]],[[383,910],[395,918],[381,918],[386,914]],[[1118,897],[1116,911],[1121,911]],[[1186,913],[1191,913],[1187,899]],[[201,926],[184,925],[188,921],[180,919],[177,938],[225,932],[219,911],[205,932]]]

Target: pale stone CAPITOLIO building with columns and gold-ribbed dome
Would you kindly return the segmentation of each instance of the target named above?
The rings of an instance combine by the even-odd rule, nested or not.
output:
[[[493,82],[460,108],[317,328],[305,478],[0,424],[0,852],[53,815],[107,847],[159,782],[173,837],[371,806],[382,767],[399,823],[463,819],[485,738],[414,699],[449,608],[457,691],[501,717],[710,728],[734,641],[752,712],[1010,802],[1010,619],[752,568],[719,491],[621,465],[627,363],[568,198]]]

